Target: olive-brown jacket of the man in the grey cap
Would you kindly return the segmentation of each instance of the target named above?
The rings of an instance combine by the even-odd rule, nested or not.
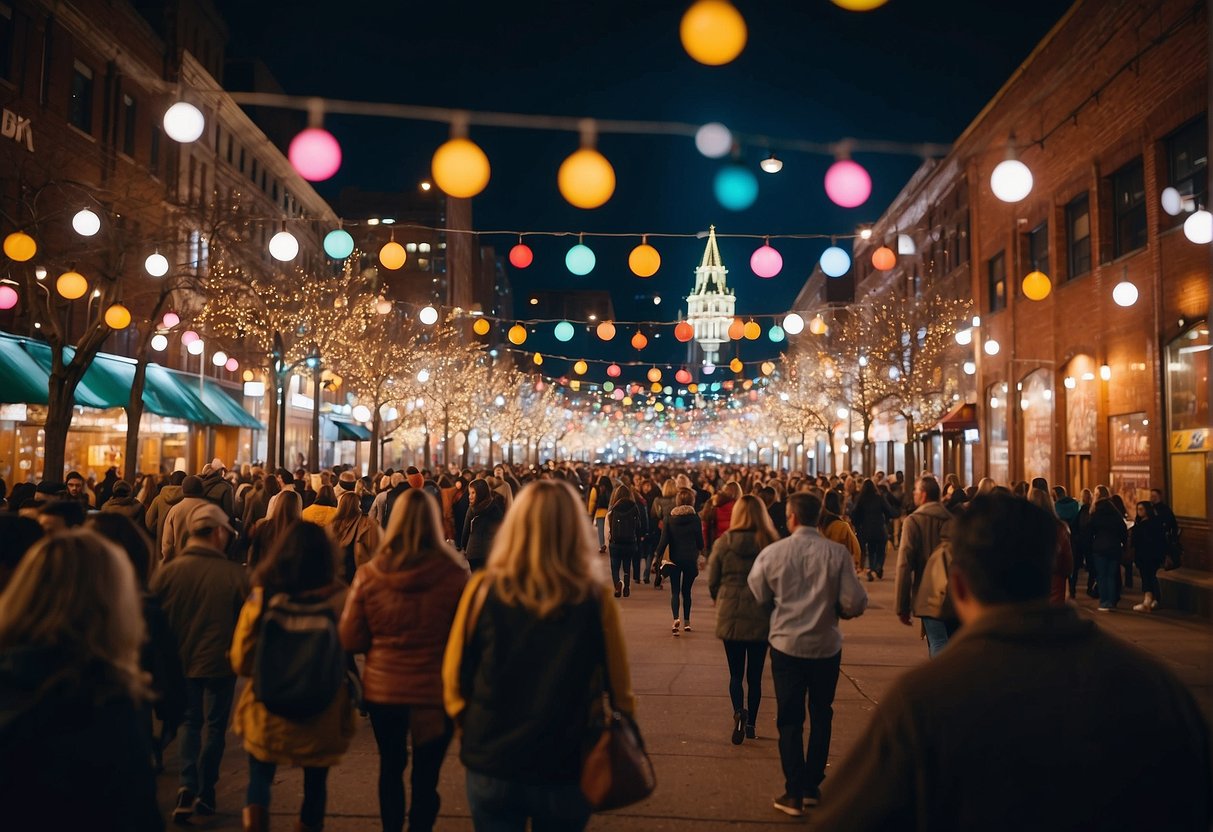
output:
[[[233,676],[228,648],[249,595],[244,566],[192,540],[152,576],[152,592],[177,639],[186,677]]]

